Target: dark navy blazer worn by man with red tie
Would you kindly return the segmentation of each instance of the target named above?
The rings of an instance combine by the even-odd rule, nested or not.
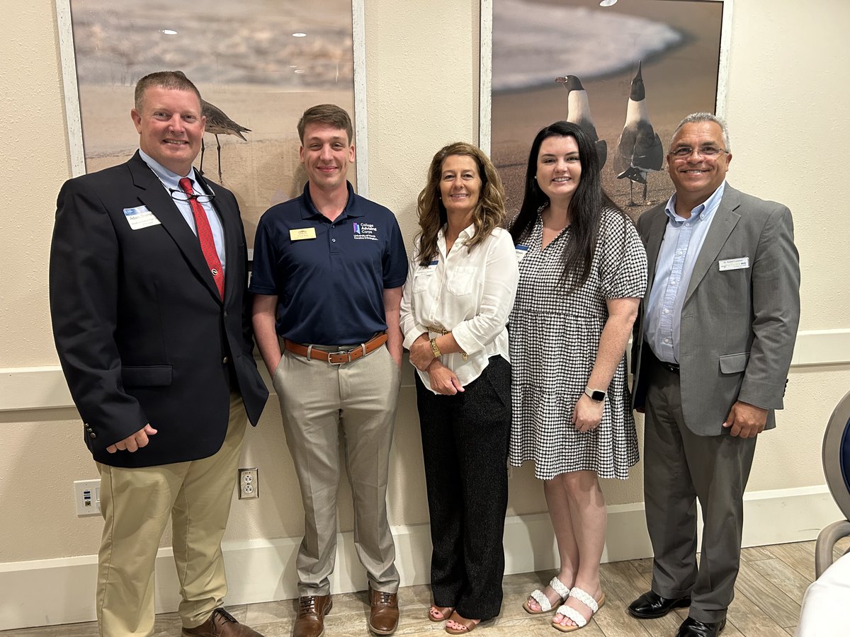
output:
[[[269,392],[253,358],[239,206],[201,178],[224,226],[224,301],[197,237],[139,153],[65,182],[50,251],[50,312],[71,396],[94,459],[166,465],[224,442],[231,390],[256,425]],[[133,229],[125,209],[160,223]],[[150,423],[134,453],[106,448]]]

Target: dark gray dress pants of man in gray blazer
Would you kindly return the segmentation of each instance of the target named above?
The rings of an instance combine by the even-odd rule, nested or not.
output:
[[[719,622],[734,597],[756,438],[697,436],[683,419],[679,376],[660,364],[648,371],[643,491],[655,553],[652,589],[662,597],[691,595],[690,617]],[[703,516],[699,568],[697,498]]]

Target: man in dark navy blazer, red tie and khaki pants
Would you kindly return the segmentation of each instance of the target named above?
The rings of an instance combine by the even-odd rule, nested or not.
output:
[[[152,634],[170,517],[183,634],[255,636],[221,608],[241,441],[268,397],[245,232],[233,194],[192,168],[205,126],[194,84],[144,76],[131,117],[139,151],[65,183],[50,254],[56,348],[101,477],[100,634]]]

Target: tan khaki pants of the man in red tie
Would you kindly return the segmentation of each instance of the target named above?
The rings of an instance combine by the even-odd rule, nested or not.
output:
[[[209,458],[133,469],[97,465],[105,521],[96,609],[101,637],[153,634],[156,550],[169,516],[183,625],[198,626],[221,606],[227,593],[221,538],[246,422],[235,393],[224,443]]]

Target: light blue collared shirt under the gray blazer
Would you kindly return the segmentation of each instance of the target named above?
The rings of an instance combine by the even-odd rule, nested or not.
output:
[[[689,219],[676,214],[675,193],[664,209],[670,218],[655,262],[655,279],[649,291],[643,333],[655,356],[666,363],[679,361],[679,325],[685,293],[725,188],[723,181],[708,199],[691,211]]]

